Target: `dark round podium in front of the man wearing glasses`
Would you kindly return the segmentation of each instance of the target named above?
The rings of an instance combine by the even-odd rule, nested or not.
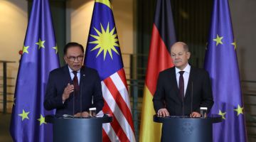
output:
[[[52,117],[53,142],[102,141],[102,124],[112,122],[112,116],[104,117]]]

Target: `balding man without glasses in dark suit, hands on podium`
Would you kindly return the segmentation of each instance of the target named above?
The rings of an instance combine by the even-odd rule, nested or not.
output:
[[[207,107],[210,111],[213,106],[208,72],[191,67],[188,64],[190,56],[186,43],[172,45],[171,58],[175,67],[159,73],[153,98],[159,116],[200,117],[200,107]]]

